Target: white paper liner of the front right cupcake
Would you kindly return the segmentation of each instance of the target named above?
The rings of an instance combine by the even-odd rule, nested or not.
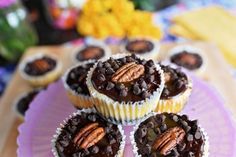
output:
[[[150,113],[143,121],[145,121],[146,119],[152,117],[152,116],[155,116],[156,114],[158,113]],[[143,122],[142,121],[142,122]],[[135,132],[138,130],[139,128],[139,125],[142,123],[142,122],[139,122],[138,124],[136,124],[133,128],[133,131],[130,132],[130,141],[131,141],[131,145],[133,146],[133,153],[134,153],[134,157],[141,157],[141,155],[138,153],[138,147],[137,147],[137,144],[135,142]],[[203,148],[203,154],[202,154],[202,157],[209,157],[209,137],[205,131],[204,128],[201,127],[201,125],[198,125],[198,127],[200,128],[200,132],[202,133],[203,135],[203,140],[204,140],[204,148]]]

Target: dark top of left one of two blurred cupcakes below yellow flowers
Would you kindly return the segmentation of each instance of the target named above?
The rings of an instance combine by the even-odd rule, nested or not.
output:
[[[87,45],[79,49],[76,54],[76,59],[78,61],[86,61],[89,59],[98,60],[105,56],[105,49],[98,45]]]

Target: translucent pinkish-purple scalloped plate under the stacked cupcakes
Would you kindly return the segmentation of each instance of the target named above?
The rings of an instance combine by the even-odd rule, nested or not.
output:
[[[203,81],[193,77],[193,93],[182,113],[198,119],[209,136],[211,157],[236,156],[236,130],[221,97]],[[19,127],[18,157],[53,157],[51,139],[59,124],[75,109],[69,103],[61,81],[41,92]],[[132,157],[129,132],[125,127],[125,157]]]

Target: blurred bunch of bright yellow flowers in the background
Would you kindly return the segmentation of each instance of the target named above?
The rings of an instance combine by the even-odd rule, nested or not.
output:
[[[161,38],[152,14],[134,9],[129,0],[88,0],[77,22],[82,35],[97,38],[147,36]]]

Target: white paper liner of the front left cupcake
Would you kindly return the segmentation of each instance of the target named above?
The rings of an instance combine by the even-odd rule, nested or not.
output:
[[[56,149],[56,140],[59,137],[59,135],[61,134],[63,128],[65,127],[65,125],[67,124],[68,120],[77,116],[77,115],[81,115],[81,112],[85,112],[85,113],[97,113],[96,110],[94,108],[89,108],[89,109],[83,109],[83,110],[77,110],[76,112],[74,112],[72,115],[70,115],[68,118],[66,118],[63,123],[60,124],[60,127],[56,129],[56,133],[55,135],[53,135],[53,138],[51,140],[51,145],[52,145],[52,153],[54,155],[54,157],[60,157],[57,149]],[[124,134],[124,130],[122,128],[121,125],[117,125],[121,136],[122,136],[122,140],[120,142],[120,147],[119,150],[117,152],[117,154],[114,157],[123,157],[124,154],[124,148],[125,148],[125,134]]]

